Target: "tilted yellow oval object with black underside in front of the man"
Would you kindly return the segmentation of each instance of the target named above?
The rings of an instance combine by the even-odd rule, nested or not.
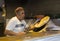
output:
[[[48,23],[50,17],[46,16],[44,18],[42,18],[40,20],[40,22],[37,22],[34,25],[31,25],[31,28],[37,28],[37,30],[39,30],[39,32],[45,31],[45,29],[47,28],[46,24]],[[29,32],[34,32],[33,30],[30,30]]]

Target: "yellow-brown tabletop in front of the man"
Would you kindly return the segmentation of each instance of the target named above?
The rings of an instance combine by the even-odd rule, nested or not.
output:
[[[5,36],[5,37],[0,37],[0,41],[26,41],[29,39],[34,39],[39,37],[40,39],[43,39],[45,37],[50,37],[50,36],[55,36],[60,34],[60,31],[46,31],[46,32],[29,32],[25,35],[21,36]]]

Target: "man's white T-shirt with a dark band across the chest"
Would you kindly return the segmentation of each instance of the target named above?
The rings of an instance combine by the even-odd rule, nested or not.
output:
[[[6,30],[11,30],[15,33],[23,32],[27,24],[24,20],[19,21],[18,18],[15,16],[13,17],[7,24]]]

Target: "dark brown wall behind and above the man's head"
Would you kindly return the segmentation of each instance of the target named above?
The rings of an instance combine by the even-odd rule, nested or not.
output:
[[[13,17],[16,7],[25,9],[26,17],[37,14],[50,15],[52,18],[60,16],[60,0],[5,0],[6,18]]]

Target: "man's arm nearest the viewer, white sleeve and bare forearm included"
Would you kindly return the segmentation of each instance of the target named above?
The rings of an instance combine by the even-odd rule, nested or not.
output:
[[[14,27],[15,27],[15,22],[10,20],[6,26],[5,34],[10,36],[19,36],[25,34],[25,32],[19,32],[19,33],[13,32]]]

